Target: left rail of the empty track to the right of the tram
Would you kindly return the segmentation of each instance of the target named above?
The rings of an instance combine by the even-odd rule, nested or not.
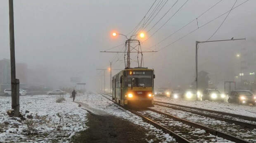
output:
[[[177,108],[177,107],[174,107],[174,106],[166,106],[166,105],[161,105],[161,104],[155,104],[155,105],[163,106],[163,107],[167,107],[167,108],[173,108],[175,110],[190,112],[190,113],[194,113],[194,114],[197,114],[197,115],[202,115],[202,116],[205,116],[205,117],[225,121],[225,122],[228,122],[228,123],[231,123],[231,124],[234,123],[235,125],[239,125],[239,126],[242,126],[242,127],[247,127],[249,129],[256,129],[255,124],[251,124],[251,123],[247,123],[247,122],[241,122],[241,121],[232,120],[232,119],[228,119],[228,118],[222,118],[222,117],[219,117],[217,115],[209,115],[209,114],[200,113],[200,112],[197,112],[197,111],[191,111],[191,110],[187,110],[187,109],[183,109],[183,108]]]

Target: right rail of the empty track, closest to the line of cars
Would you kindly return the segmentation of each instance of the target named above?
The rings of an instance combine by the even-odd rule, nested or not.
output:
[[[241,119],[245,119],[245,120],[250,120],[250,121],[256,121],[256,118],[254,118],[254,117],[249,117],[249,116],[244,116],[244,115],[238,115],[238,114],[233,114],[233,113],[227,113],[227,112],[220,112],[220,111],[208,110],[208,109],[197,108],[197,107],[190,107],[190,106],[179,105],[179,104],[173,104],[173,103],[166,103],[166,102],[162,102],[162,101],[155,101],[155,100],[154,100],[154,102],[163,103],[163,104],[169,104],[169,105],[174,105],[174,106],[180,106],[180,107],[184,107],[184,108],[192,108],[192,109],[197,109],[197,110],[201,110],[201,111],[207,111],[207,112],[212,112],[212,113],[218,113],[218,114],[222,114],[222,115],[229,115],[229,116],[233,116],[233,117],[237,117],[237,118],[241,118]]]

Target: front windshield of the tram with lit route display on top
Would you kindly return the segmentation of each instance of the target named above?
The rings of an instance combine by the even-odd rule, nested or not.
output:
[[[128,87],[152,87],[152,71],[129,71]]]

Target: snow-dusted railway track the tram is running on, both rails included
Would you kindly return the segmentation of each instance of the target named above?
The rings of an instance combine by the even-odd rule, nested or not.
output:
[[[101,94],[105,98],[111,97],[107,94]],[[108,97],[106,97],[107,95]],[[111,99],[109,99],[112,101]],[[113,101],[114,102],[114,101]],[[200,125],[189,120],[178,118],[174,115],[146,108],[143,111],[126,110],[140,116],[144,121],[162,129],[165,133],[173,136],[180,143],[197,143],[197,142],[226,142],[234,141],[236,143],[251,143],[247,140],[237,138],[222,131]]]

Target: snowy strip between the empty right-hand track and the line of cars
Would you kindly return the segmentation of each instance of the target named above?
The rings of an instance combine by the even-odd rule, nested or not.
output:
[[[208,110],[221,111],[256,118],[256,106],[231,104],[215,101],[187,101],[183,99],[171,99],[169,97],[154,97],[156,101],[163,101],[190,107],[204,108]]]

